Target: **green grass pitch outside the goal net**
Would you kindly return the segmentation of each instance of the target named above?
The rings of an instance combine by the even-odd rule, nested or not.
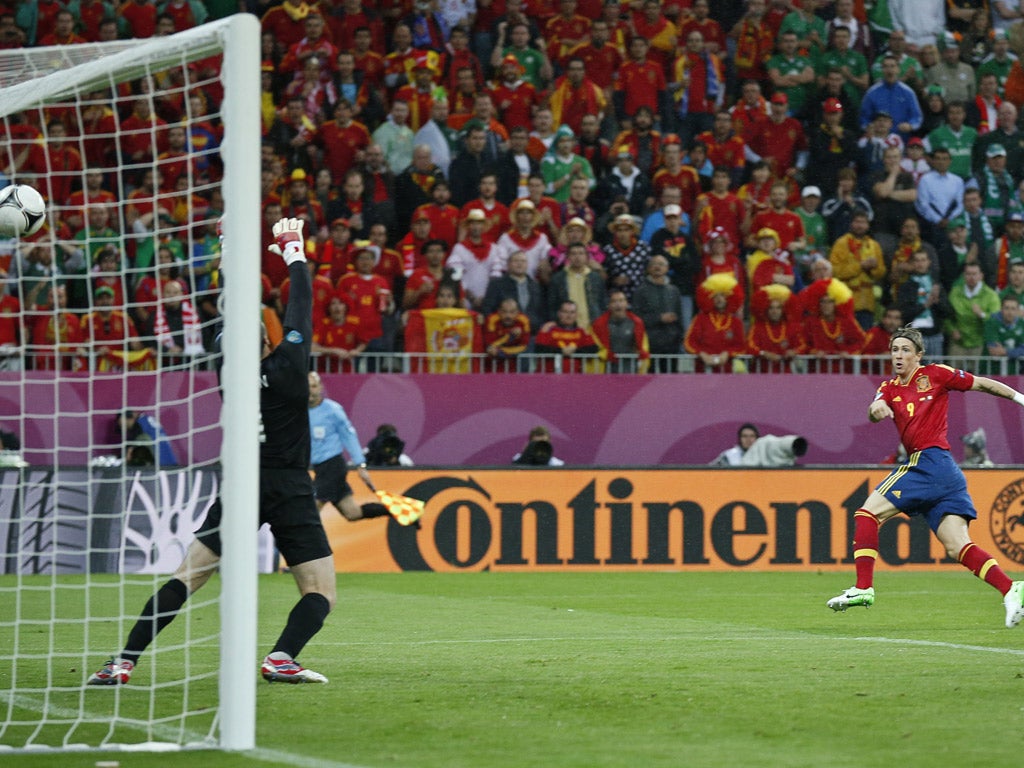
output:
[[[890,571],[877,579],[872,608],[834,614],[824,601],[851,578],[340,575],[338,607],[301,655],[331,684],[260,682],[254,753],[8,754],[0,762],[1020,766],[1024,627],[1002,627],[998,595],[955,567]],[[294,603],[291,578],[262,577],[260,599],[262,653]],[[213,650],[197,652],[215,665]],[[140,684],[153,674],[148,662],[136,672]],[[9,683],[0,679],[0,689]],[[201,684],[197,698],[203,685],[216,683]],[[88,689],[85,705],[102,708],[114,695]],[[174,697],[171,689],[166,700]]]

